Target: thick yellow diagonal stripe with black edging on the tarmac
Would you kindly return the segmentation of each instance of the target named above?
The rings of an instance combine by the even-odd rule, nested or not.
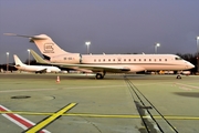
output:
[[[42,130],[44,126],[46,126],[49,123],[51,123],[52,121],[54,121],[55,119],[57,119],[59,116],[61,116],[64,112],[69,111],[70,109],[72,109],[73,106],[75,106],[76,103],[71,103],[66,106],[64,106],[63,109],[61,109],[59,112],[53,113],[51,116],[49,116],[48,119],[45,119],[44,121],[40,122],[39,124],[32,126],[31,129],[29,129],[25,133],[36,133],[38,131]]]

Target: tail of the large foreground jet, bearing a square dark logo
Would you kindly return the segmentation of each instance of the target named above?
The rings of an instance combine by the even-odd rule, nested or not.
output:
[[[20,34],[14,34],[14,33],[4,33],[6,35],[14,35],[14,37],[23,37],[23,38],[29,38],[30,42],[34,42],[38,47],[38,49],[41,51],[41,53],[44,55],[44,58],[51,58],[51,57],[56,57],[61,54],[69,53],[61,49],[54,41],[48,37],[46,34],[40,34],[40,35],[20,35]]]

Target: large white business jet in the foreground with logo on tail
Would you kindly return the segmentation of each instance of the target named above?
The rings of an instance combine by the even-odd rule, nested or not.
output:
[[[46,34],[33,37],[6,34],[29,38],[50,64],[93,72],[96,79],[103,79],[107,72],[181,71],[195,68],[193,64],[175,54],[80,54],[64,51]]]

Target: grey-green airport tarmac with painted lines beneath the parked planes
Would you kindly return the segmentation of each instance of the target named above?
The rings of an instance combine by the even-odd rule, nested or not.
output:
[[[198,75],[0,73],[3,133],[198,133]]]

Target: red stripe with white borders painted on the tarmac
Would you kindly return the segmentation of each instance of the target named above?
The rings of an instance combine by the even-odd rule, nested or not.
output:
[[[19,114],[11,112],[9,109],[7,109],[2,105],[0,105],[0,112],[10,112],[10,113],[2,113],[1,115],[7,117],[8,120],[10,120],[11,122],[15,123],[17,125],[19,125],[23,130],[27,130],[27,129],[35,125],[35,123],[20,116]],[[46,130],[42,130],[42,131],[40,131],[40,133],[51,133],[51,132],[49,132]]]

